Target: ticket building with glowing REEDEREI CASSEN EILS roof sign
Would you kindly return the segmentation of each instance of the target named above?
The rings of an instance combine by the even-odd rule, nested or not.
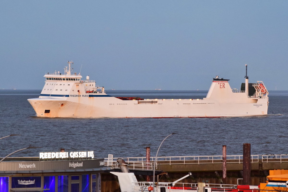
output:
[[[0,162],[1,192],[100,192],[110,168],[93,151],[40,153]]]

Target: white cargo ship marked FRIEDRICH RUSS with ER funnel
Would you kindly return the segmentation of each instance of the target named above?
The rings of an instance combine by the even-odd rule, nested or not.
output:
[[[64,74],[47,73],[39,98],[28,99],[38,117],[241,117],[267,115],[268,91],[262,81],[249,83],[246,66],[245,90],[233,91],[229,79],[213,78],[203,99],[141,99],[113,97],[95,81],[72,73],[68,62]],[[255,90],[254,90],[255,89]]]

